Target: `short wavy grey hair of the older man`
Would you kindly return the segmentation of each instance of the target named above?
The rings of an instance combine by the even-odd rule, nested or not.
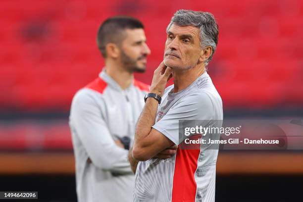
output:
[[[207,66],[218,44],[219,27],[214,16],[210,12],[178,10],[171,18],[166,32],[169,31],[173,24],[179,26],[192,25],[200,28],[201,48],[212,47],[212,53],[205,61],[205,66]]]

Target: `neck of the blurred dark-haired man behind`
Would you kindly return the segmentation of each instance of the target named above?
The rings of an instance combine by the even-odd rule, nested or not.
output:
[[[106,74],[109,75],[122,90],[128,88],[134,78],[134,74],[125,70],[121,64],[117,64],[111,61],[105,62]]]

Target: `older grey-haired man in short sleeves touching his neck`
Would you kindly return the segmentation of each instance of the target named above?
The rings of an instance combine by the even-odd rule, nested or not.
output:
[[[178,10],[167,27],[164,60],[154,71],[151,93],[138,119],[129,152],[136,172],[135,202],[213,202],[218,150],[182,149],[180,120],[204,120],[221,127],[222,100],[206,66],[218,42],[218,25],[209,12]],[[170,78],[174,85],[165,89]],[[167,159],[155,158],[179,146]]]

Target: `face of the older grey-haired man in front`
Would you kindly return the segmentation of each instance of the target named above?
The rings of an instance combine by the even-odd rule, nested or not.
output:
[[[200,30],[173,24],[167,32],[164,64],[173,70],[187,70],[198,64],[202,54]]]

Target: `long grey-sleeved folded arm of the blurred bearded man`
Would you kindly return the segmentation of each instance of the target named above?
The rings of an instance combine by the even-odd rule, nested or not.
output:
[[[85,89],[77,93],[73,99],[71,129],[85,148],[89,161],[96,167],[122,174],[131,173],[127,160],[128,151],[119,147],[118,142],[112,139],[92,95],[91,91]]]

